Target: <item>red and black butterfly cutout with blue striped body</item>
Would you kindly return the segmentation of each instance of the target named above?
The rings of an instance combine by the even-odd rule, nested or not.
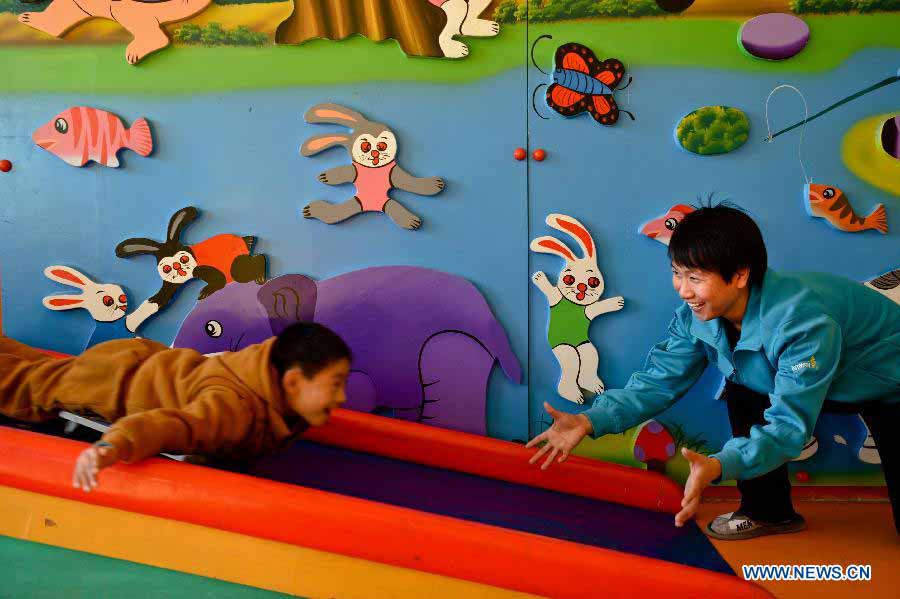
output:
[[[534,46],[543,38],[553,39],[552,36],[542,35],[534,41],[531,46],[532,62],[534,62]],[[556,49],[554,65],[553,83],[547,88],[547,105],[550,108],[563,116],[576,116],[586,110],[601,125],[615,125],[620,112],[624,112],[634,120],[634,115],[627,110],[621,110],[613,98],[613,92],[625,75],[625,65],[621,60],[608,58],[600,61],[587,46],[570,42]],[[534,66],[544,73],[537,63]],[[625,87],[630,84],[631,77],[628,78]],[[540,87],[541,85],[536,87],[532,94],[532,106],[534,94]],[[534,109],[537,113],[536,106]],[[537,114],[546,119],[540,113]]]

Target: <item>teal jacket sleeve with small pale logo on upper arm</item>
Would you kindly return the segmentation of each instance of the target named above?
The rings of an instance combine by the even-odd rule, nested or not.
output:
[[[812,435],[841,359],[841,329],[829,316],[786,322],[775,336],[775,387],[765,425],[736,437],[711,457],[722,464],[721,480],[755,478],[803,450]]]

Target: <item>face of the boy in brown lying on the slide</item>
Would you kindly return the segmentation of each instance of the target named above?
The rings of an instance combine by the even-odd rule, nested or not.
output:
[[[347,401],[344,391],[349,376],[348,360],[332,362],[311,378],[299,367],[291,368],[281,380],[285,401],[310,426],[322,426],[331,411]]]

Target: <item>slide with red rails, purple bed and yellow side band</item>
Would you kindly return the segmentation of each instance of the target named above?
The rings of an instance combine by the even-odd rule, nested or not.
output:
[[[0,534],[301,596],[768,597],[656,473],[346,410],[247,473],[0,427]]]

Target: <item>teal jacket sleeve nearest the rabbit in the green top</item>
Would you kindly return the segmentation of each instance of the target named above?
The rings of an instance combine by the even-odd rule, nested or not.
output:
[[[690,334],[684,316],[676,314],[669,336],[650,350],[644,368],[628,379],[624,389],[609,389],[584,412],[594,438],[621,433],[659,414],[691,388],[707,365],[702,341]]]

